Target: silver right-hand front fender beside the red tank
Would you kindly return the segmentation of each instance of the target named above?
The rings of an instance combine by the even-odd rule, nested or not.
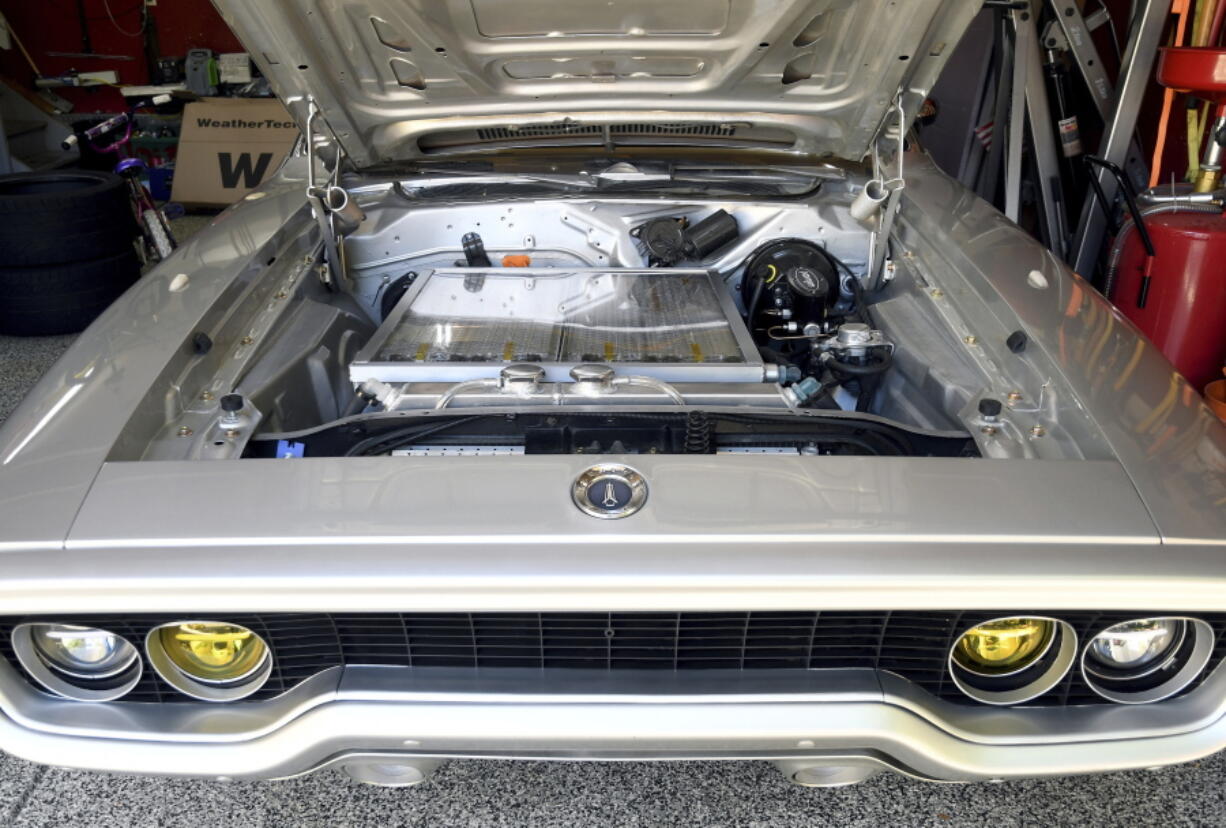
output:
[[[1101,431],[1167,545],[1226,548],[1226,426],[1119,310],[999,212],[908,164],[900,244],[943,304],[996,331],[1022,330],[1029,400],[1063,380],[1069,416]],[[1046,288],[1029,277],[1038,271]],[[999,341],[999,340],[998,340]],[[999,345],[997,345],[999,347]]]

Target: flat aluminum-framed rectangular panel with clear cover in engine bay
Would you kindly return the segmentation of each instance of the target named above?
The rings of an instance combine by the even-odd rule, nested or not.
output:
[[[722,281],[705,270],[423,272],[349,366],[362,383],[459,383],[580,363],[667,383],[760,383],[764,366]]]

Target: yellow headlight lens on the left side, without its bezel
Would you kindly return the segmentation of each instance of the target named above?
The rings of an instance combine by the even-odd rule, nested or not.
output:
[[[211,621],[162,627],[158,639],[175,667],[212,684],[250,675],[268,653],[264,639],[246,627]]]

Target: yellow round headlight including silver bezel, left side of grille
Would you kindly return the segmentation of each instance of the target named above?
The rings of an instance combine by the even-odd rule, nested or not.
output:
[[[150,664],[177,689],[210,702],[250,696],[268,678],[272,654],[246,627],[181,621],[150,631]]]

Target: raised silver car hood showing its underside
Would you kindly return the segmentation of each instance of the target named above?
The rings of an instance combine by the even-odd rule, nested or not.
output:
[[[521,146],[859,161],[982,2],[213,1],[299,125],[313,98],[358,167]]]

